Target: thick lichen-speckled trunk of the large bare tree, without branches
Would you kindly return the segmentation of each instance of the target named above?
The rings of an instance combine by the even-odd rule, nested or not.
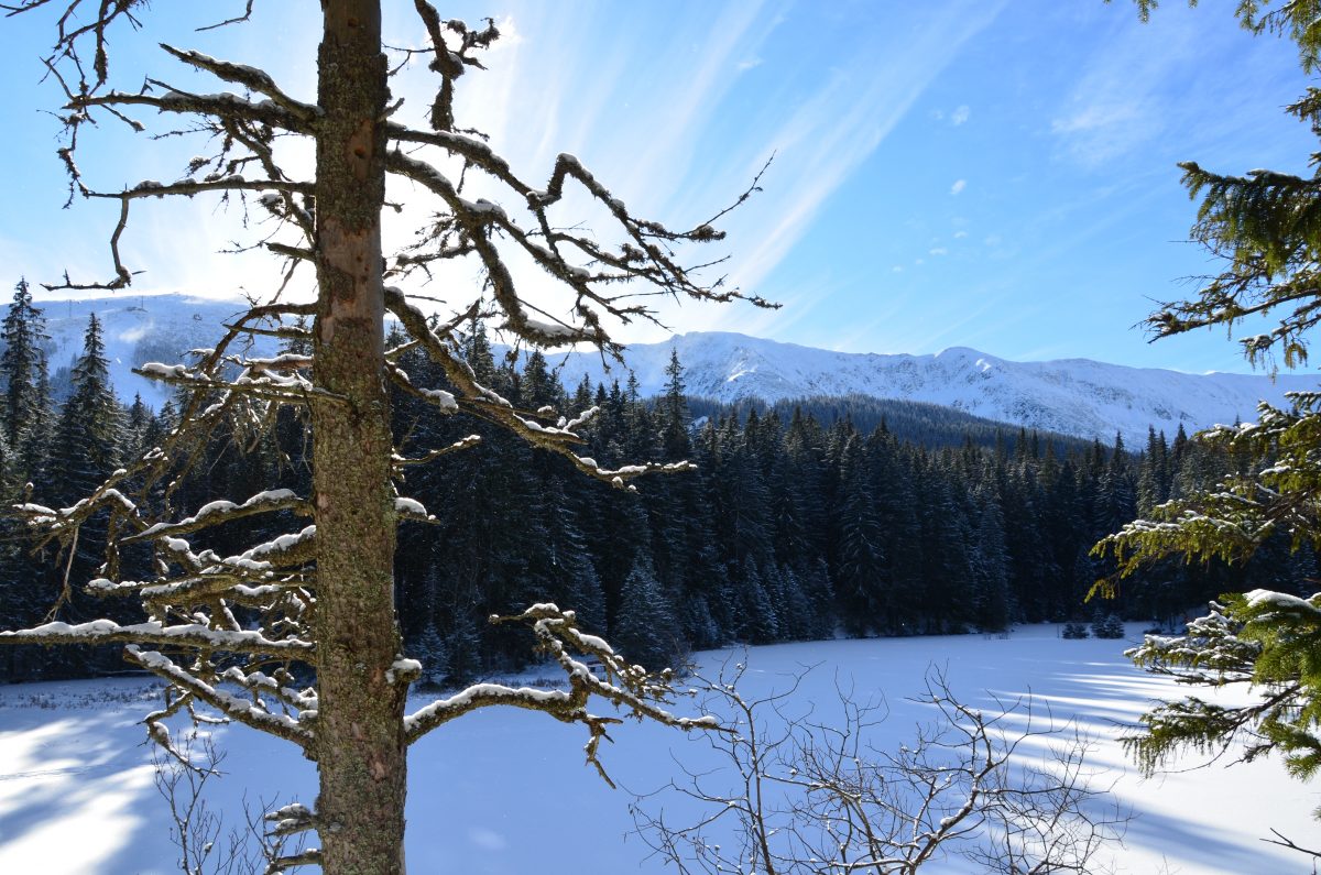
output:
[[[379,0],[322,0],[313,379],[318,831],[330,875],[404,871],[404,685],[384,386],[380,210],[388,98]]]

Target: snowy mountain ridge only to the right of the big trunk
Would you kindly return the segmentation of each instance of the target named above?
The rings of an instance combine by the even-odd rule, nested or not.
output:
[[[1155,426],[1173,438],[1256,419],[1259,399],[1284,403],[1284,393],[1316,389],[1317,378],[1281,374],[1184,374],[1107,365],[1086,358],[1013,362],[955,346],[934,356],[835,353],[744,334],[694,332],[629,348],[626,361],[643,395],[662,391],[670,350],[679,353],[688,394],[725,402],[768,402],[857,393],[954,407],[976,416],[1082,438],[1147,443]],[[561,361],[551,357],[552,362]],[[594,354],[571,354],[563,379],[605,379]],[[608,379],[621,379],[618,367]]]

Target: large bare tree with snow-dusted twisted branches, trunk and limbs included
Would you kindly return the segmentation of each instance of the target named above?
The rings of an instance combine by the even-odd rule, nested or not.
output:
[[[255,0],[189,4],[211,15],[205,26],[247,21]],[[89,591],[140,599],[147,620],[50,623],[5,633],[0,640],[41,644],[122,642],[125,658],[170,686],[166,706],[148,718],[152,738],[169,749],[165,720],[205,704],[225,719],[277,735],[317,764],[314,810],[297,818],[314,829],[320,847],[280,864],[321,863],[328,872],[402,872],[406,752],[427,732],[486,706],[507,704],[583,723],[588,759],[616,718],[588,711],[601,697],[624,711],[691,728],[711,720],[672,716],[663,708],[668,675],[630,665],[604,641],[579,632],[573,613],[552,604],[528,607],[505,621],[526,624],[536,646],[563,666],[561,690],[480,685],[419,712],[406,714],[406,694],[420,666],[402,658],[395,617],[392,559],[400,519],[429,518],[400,494],[410,465],[433,463],[468,448],[476,438],[412,452],[395,447],[390,430],[391,385],[433,406],[436,415],[464,411],[493,420],[579,471],[620,488],[655,471],[684,464],[637,464],[605,469],[580,456],[576,428],[590,412],[568,420],[551,410],[515,410],[478,382],[457,352],[456,329],[477,316],[534,345],[589,342],[617,354],[610,325],[651,319],[646,295],[728,301],[745,297],[721,282],[701,279],[690,245],[721,239],[711,222],[691,230],[634,215],[571,155],[560,155],[540,185],[519,176],[481,136],[454,119],[454,91],[498,38],[493,22],[469,28],[445,21],[427,0],[412,4],[429,40],[421,57],[436,79],[425,122],[399,120],[390,81],[412,65],[391,69],[382,45],[380,0],[322,0],[322,41],[314,98],[291,94],[262,69],[161,45],[166,62],[213,77],[232,91],[198,93],[170,85],[168,74],[133,90],[110,86],[111,36],[147,26],[145,0],[20,0],[0,4],[8,15],[49,15],[50,75],[66,95],[59,159],[70,200],[118,202],[110,237],[112,275],[82,282],[67,274],[55,288],[120,289],[137,270],[125,263],[122,241],[129,218],[155,198],[215,197],[271,229],[252,246],[283,259],[284,280],[236,319],[211,350],[178,365],[153,363],[144,374],[190,391],[182,424],[137,464],[114,475],[71,508],[25,505],[21,512],[66,549],[94,517],[110,531],[106,563]],[[141,115],[141,118],[139,118]],[[169,182],[137,181],[99,188],[79,169],[89,126],[123,123],[156,137],[198,139],[209,152]],[[291,140],[314,145],[314,165],[284,160]],[[737,201],[745,200],[752,188]],[[476,193],[474,193],[476,190]],[[609,227],[588,230],[565,215],[565,194],[590,204]],[[403,200],[423,204],[429,218],[413,241],[387,251],[382,211]],[[503,201],[503,204],[498,202]],[[560,293],[534,305],[520,291],[511,259],[547,275]],[[481,288],[445,288],[448,315],[428,320],[417,295],[446,262],[476,264]],[[705,266],[705,267],[709,267]],[[289,303],[284,289],[313,274],[316,303]],[[540,299],[539,299],[540,300]],[[756,304],[760,299],[748,296]],[[309,333],[291,328],[313,317]],[[396,319],[407,341],[384,344],[383,323]],[[300,336],[310,356],[256,358],[244,340],[254,333]],[[446,386],[413,385],[398,357],[420,348],[440,365]],[[238,377],[229,374],[238,371]],[[176,486],[209,436],[222,427],[259,428],[277,407],[305,411],[314,464],[312,494],[266,490],[218,497],[202,508],[176,506]],[[217,525],[254,515],[288,526],[285,534],[235,555],[202,546]],[[197,546],[194,546],[197,542]],[[152,572],[125,579],[122,551],[149,545]],[[141,576],[141,575],[139,575]],[[77,582],[75,582],[77,583]],[[602,671],[588,670],[583,656]],[[301,689],[300,665],[316,682]],[[176,749],[176,753],[178,751]],[[279,864],[276,866],[276,868]]]

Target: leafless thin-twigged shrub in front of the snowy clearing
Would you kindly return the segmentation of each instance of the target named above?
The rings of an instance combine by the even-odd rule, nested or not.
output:
[[[684,768],[633,808],[643,841],[684,875],[911,874],[955,854],[987,872],[1098,872],[1127,823],[1086,765],[1087,740],[1030,699],[984,712],[933,670],[913,699],[933,719],[889,751],[873,743],[884,702],[839,690],[840,715],[824,720],[793,711],[797,683],[745,699],[742,671],[699,685],[731,730],[707,736],[719,765]],[[675,822],[663,806],[679,800],[705,816]]]

